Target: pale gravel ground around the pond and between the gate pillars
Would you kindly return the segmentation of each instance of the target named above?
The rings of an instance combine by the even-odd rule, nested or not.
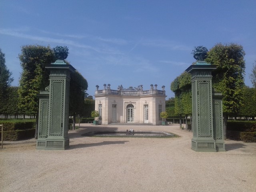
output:
[[[159,130],[179,138],[92,138],[93,130]],[[70,131],[70,149],[4,142],[1,192],[255,192],[256,144],[228,140],[226,152],[191,150],[178,125],[93,126]]]

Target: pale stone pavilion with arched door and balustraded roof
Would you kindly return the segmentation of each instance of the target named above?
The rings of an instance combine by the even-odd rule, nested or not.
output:
[[[162,90],[157,85],[151,84],[150,89],[123,88],[118,86],[112,90],[110,84],[104,84],[104,89],[95,91],[95,110],[100,114],[99,121],[102,125],[111,123],[146,123],[160,125],[160,113],[165,111],[165,86]]]

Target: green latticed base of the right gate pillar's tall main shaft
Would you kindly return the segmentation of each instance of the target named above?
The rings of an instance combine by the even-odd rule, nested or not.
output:
[[[211,138],[192,138],[191,149],[199,152],[217,152],[216,142]]]

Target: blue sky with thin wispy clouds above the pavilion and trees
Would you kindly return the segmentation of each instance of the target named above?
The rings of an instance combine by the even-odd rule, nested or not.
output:
[[[256,60],[255,0],[0,0],[0,48],[18,86],[20,47],[68,46],[67,60],[96,85],[165,85],[194,62],[194,46],[237,43],[245,84]]]

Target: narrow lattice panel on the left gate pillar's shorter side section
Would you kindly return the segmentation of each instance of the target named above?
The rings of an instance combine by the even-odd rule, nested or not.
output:
[[[48,110],[49,110],[49,100],[40,100],[40,118],[38,124],[38,138],[47,137],[48,129]]]

